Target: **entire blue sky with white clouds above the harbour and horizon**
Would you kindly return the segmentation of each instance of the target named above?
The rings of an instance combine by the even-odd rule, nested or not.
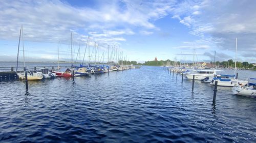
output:
[[[0,1],[0,61],[123,60],[256,63],[256,1],[42,0]],[[88,37],[90,36],[90,42]],[[80,47],[80,50],[79,50]],[[59,52],[58,52],[59,49]],[[80,52],[78,52],[80,51]],[[59,54],[58,54],[59,53]],[[104,55],[104,56],[103,56]],[[117,55],[117,54],[116,54]],[[121,57],[121,55],[120,55]],[[127,57],[127,58],[126,58]],[[96,59],[97,59],[96,58]],[[103,61],[102,60],[102,61]]]

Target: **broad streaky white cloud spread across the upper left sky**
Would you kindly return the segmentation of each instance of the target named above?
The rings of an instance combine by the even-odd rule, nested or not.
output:
[[[135,34],[130,27],[157,29],[152,22],[166,16],[173,4],[168,1],[97,3],[97,8],[92,9],[90,6],[72,7],[58,0],[1,1],[0,39],[17,40],[19,27],[23,24],[28,41],[68,41],[71,32],[76,33],[75,40],[86,41],[84,36],[90,34],[92,39],[93,36],[104,37],[102,42],[124,41],[121,35]]]

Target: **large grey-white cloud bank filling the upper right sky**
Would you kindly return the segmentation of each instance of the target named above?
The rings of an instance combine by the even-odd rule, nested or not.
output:
[[[216,48],[255,51],[256,1],[183,1],[175,6],[173,17],[190,28],[190,34],[208,40]],[[203,12],[203,13],[202,13]]]

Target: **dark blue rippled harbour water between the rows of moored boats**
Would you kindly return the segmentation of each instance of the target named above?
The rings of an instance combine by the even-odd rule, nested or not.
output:
[[[0,141],[256,142],[256,100],[218,87],[212,106],[213,89],[162,67],[29,81],[27,96],[0,82]]]

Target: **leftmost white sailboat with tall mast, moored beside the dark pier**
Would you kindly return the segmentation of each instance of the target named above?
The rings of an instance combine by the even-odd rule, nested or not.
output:
[[[22,35],[22,44],[23,44],[23,66],[25,67],[25,50],[24,50],[24,40],[23,40],[23,26],[20,27],[20,31],[19,31],[19,41],[18,41],[18,53],[19,53],[19,44],[20,44],[20,37]],[[24,72],[18,72],[18,53],[17,53],[17,65],[16,65],[16,73],[19,77],[19,79],[25,80],[25,73],[27,72],[27,79],[28,80],[41,80],[42,78],[44,78],[44,76],[42,76],[41,74],[32,72],[32,71],[26,71],[26,68],[24,69]]]

